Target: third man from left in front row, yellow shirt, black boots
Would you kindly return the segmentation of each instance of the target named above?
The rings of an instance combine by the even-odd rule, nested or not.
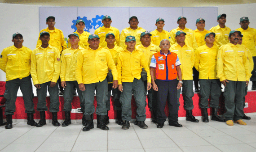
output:
[[[72,110],[71,103],[74,97],[74,87],[77,89],[81,111],[84,115],[84,102],[82,100],[82,91],[79,90],[77,80],[75,78],[75,66],[76,66],[76,57],[79,51],[83,50],[84,48],[79,46],[79,36],[76,33],[71,33],[68,35],[69,42],[71,47],[64,50],[62,52],[62,63],[61,63],[61,84],[62,87],[65,88],[64,90],[64,105],[63,111],[65,112],[65,121],[62,123],[62,127],[66,127],[71,124],[71,117],[70,112]],[[85,118],[82,118],[82,124],[85,126]]]

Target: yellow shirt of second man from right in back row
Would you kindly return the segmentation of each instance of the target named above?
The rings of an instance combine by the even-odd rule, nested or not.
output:
[[[212,27],[210,32],[216,34],[214,44],[218,47],[221,47],[224,44],[228,44],[230,31],[230,28],[227,26],[225,26],[225,28],[221,28],[220,25]]]

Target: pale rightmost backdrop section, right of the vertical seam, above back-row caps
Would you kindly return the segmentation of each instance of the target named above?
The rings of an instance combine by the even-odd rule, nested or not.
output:
[[[186,27],[192,30],[196,29],[195,21],[202,17],[205,20],[205,29],[210,30],[213,26],[218,25],[217,7],[187,7],[183,8],[183,16],[187,18]]]

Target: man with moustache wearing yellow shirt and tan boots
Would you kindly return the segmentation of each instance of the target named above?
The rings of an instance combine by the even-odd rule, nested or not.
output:
[[[233,126],[234,122],[246,125],[242,120],[243,97],[252,74],[249,70],[247,50],[238,44],[238,38],[241,36],[240,31],[231,31],[229,44],[222,45],[217,56],[217,77],[225,86],[223,95],[226,112],[223,116],[229,126]]]

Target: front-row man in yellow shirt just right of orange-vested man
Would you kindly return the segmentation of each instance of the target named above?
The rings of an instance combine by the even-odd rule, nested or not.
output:
[[[188,46],[185,42],[186,33],[181,31],[176,32],[176,42],[169,49],[171,52],[176,53],[181,62],[181,73],[182,73],[182,94],[184,99],[184,109],[186,110],[186,120],[191,122],[199,122],[193,114],[194,109],[192,97],[194,97],[193,91],[193,70],[194,67],[194,50],[191,46]],[[179,80],[181,81],[181,80]],[[180,94],[181,89],[177,91],[177,103],[178,110],[180,106]]]

